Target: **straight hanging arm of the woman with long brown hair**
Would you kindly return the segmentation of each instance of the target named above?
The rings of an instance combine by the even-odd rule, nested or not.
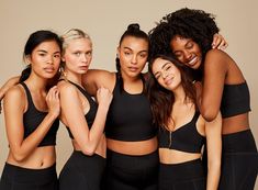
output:
[[[222,118],[221,113],[212,122],[205,122],[207,146],[206,190],[216,190],[221,176]]]

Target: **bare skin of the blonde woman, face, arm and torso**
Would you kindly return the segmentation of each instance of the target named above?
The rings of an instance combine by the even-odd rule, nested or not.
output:
[[[90,110],[89,101],[69,81],[82,87],[82,75],[88,75],[87,71],[92,59],[92,43],[90,38],[81,36],[69,40],[67,44],[67,47],[63,49],[64,55],[61,57],[63,62],[65,62],[65,80],[58,82],[61,107],[60,120],[69,127],[75,138],[72,139],[72,145],[76,150],[80,150],[86,155],[96,153],[105,157],[103,128],[112,94],[106,88],[98,88],[98,111],[92,127],[89,128],[85,118]]]

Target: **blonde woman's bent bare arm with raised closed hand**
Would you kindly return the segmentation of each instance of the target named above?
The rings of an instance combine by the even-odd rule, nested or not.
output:
[[[105,118],[112,100],[112,94],[108,89],[101,88],[97,91],[97,99],[99,101],[99,107],[94,122],[89,130],[83,113],[86,108],[82,108],[78,90],[69,83],[63,83],[60,87],[63,116],[65,118],[67,125],[69,126],[69,130],[81,152],[86,155],[94,154],[99,141],[103,134]]]

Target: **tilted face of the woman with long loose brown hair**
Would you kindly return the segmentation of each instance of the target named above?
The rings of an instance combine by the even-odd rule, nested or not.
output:
[[[180,70],[170,60],[156,58],[152,69],[158,83],[167,90],[173,91],[181,82]]]

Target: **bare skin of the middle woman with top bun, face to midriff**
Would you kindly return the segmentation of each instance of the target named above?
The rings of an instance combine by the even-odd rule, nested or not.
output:
[[[141,72],[147,62],[148,43],[144,38],[126,36],[117,47],[117,56],[121,64],[121,74],[124,90],[131,94],[143,92]],[[98,87],[105,87],[113,91],[115,85],[115,72],[106,70],[89,70],[83,76],[86,88],[96,94]],[[122,142],[108,138],[108,148],[128,155],[146,155],[157,149],[156,137],[142,142]]]

